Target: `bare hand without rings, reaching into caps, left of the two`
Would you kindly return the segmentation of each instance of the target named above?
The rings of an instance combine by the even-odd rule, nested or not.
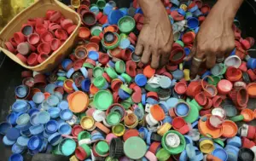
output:
[[[136,55],[142,55],[142,62],[158,68],[165,65],[171,54],[173,35],[172,25],[166,9],[160,0],[139,0],[143,9],[144,25],[140,32]]]

